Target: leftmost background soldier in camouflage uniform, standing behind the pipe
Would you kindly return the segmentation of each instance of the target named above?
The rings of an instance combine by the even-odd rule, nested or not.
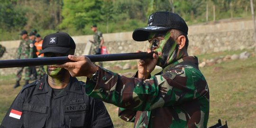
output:
[[[21,36],[22,40],[18,46],[17,59],[32,58],[34,45],[33,45],[32,41],[28,38],[27,31],[26,30],[21,31],[20,36]],[[20,85],[19,81],[21,80],[23,68],[25,70],[25,78],[24,78],[25,85],[28,84],[28,81],[30,79],[29,67],[18,67],[18,71],[16,74],[16,84],[14,85],[14,88],[17,88]]]

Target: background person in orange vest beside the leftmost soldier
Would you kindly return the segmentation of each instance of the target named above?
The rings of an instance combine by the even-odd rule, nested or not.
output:
[[[43,39],[41,38],[41,36],[39,34],[36,34],[36,42],[35,42],[35,47],[37,48],[37,57],[44,57],[44,54],[38,55],[41,51],[42,51],[42,44],[43,44]],[[43,76],[46,74],[45,70],[44,70],[44,66],[36,66],[36,70],[37,70],[37,80],[41,80],[43,78]]]

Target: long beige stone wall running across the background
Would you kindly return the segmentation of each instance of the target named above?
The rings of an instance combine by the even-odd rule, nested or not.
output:
[[[149,46],[147,41],[134,41],[132,32],[103,34],[103,37],[104,46],[107,46],[110,54],[143,51]],[[189,26],[188,38],[190,55],[245,49],[254,46],[253,23],[247,20],[193,25]],[[74,36],[73,39],[76,43],[75,55],[86,55],[86,43],[92,39],[92,35]],[[0,60],[15,59],[19,40],[2,41],[0,44],[8,52]],[[15,73],[15,68],[0,69],[0,75],[7,73]]]

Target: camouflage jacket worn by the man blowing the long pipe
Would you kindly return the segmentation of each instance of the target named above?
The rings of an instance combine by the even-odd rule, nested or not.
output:
[[[134,128],[207,127],[209,89],[195,56],[183,57],[147,80],[100,68],[96,85],[89,79],[86,83],[86,94],[121,107],[119,117],[135,122]]]

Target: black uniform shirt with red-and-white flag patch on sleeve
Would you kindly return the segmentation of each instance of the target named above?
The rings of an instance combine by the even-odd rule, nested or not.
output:
[[[0,128],[112,128],[103,102],[84,93],[85,83],[71,77],[55,96],[46,75],[23,87]]]

